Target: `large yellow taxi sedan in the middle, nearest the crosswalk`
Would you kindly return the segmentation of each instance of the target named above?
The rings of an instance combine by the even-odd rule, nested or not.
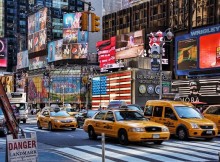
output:
[[[166,126],[151,122],[134,110],[102,110],[85,120],[83,129],[90,139],[102,133],[107,137],[118,138],[123,145],[129,142],[152,141],[161,144],[170,137]]]

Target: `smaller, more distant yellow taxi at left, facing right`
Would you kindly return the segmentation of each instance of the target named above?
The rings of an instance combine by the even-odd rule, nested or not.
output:
[[[38,129],[47,128],[50,131],[64,128],[76,130],[77,121],[59,107],[54,109],[45,108],[37,115],[37,127]]]

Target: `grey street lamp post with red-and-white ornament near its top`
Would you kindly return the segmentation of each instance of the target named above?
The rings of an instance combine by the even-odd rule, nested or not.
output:
[[[159,71],[160,73],[160,93],[159,99],[162,99],[163,94],[163,74],[162,74],[162,55],[163,55],[163,45],[166,42],[171,42],[173,39],[173,33],[171,32],[171,28],[165,30],[165,32],[158,31],[156,33],[151,32],[147,35],[150,39],[150,57],[151,61],[151,70],[152,71]]]

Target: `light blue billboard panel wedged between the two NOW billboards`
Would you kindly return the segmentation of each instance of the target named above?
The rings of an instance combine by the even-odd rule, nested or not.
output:
[[[57,61],[57,60],[62,60],[63,56],[62,56],[62,47],[63,47],[63,39],[61,40],[57,40],[57,41],[53,41],[53,42],[49,42],[47,44],[47,53],[48,53],[48,57],[47,60],[48,62],[53,62],[53,61]]]

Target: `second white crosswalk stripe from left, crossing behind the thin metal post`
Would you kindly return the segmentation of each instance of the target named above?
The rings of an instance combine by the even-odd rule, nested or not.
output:
[[[75,146],[75,148],[80,148],[80,149],[83,149],[83,150],[89,150],[89,151],[92,151],[94,153],[100,154],[100,156],[101,156],[101,152],[102,152],[101,148],[95,148],[95,147],[91,147],[91,146]],[[118,154],[118,153],[108,151],[108,150],[105,150],[105,155],[110,156],[110,157],[117,157],[120,160],[124,160],[124,161],[147,162],[146,160],[141,160],[141,159],[131,157],[131,156],[127,156],[127,155],[124,155],[124,154]],[[94,162],[96,162],[96,161],[94,161]]]

